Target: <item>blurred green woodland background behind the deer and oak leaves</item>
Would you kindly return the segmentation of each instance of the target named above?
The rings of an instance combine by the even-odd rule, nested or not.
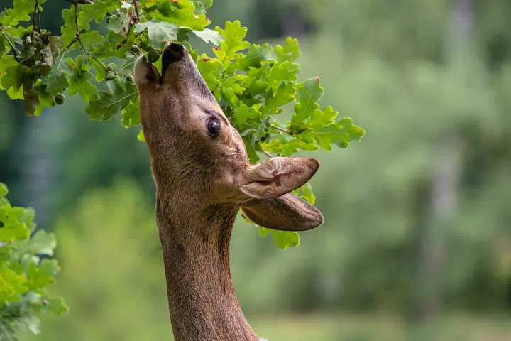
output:
[[[60,31],[63,6],[45,4],[43,27]],[[258,335],[511,340],[510,1],[215,0],[208,16],[253,43],[299,38],[302,80],[367,131],[313,153],[325,223],[299,248],[236,223],[233,281]],[[4,93],[0,108],[0,180],[56,232],[52,290],[71,309],[23,340],[171,340],[138,130],[73,97],[38,118]]]

